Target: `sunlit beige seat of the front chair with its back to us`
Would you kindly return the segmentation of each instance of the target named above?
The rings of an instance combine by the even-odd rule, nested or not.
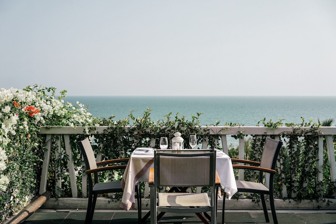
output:
[[[158,193],[160,207],[167,206],[210,206],[207,193]]]

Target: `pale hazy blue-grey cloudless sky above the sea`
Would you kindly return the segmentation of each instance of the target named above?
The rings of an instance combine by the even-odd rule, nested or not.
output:
[[[336,96],[336,1],[0,1],[0,88]]]

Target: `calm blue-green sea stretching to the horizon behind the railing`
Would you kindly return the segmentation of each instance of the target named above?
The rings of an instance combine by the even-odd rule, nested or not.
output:
[[[93,117],[121,120],[127,118],[130,110],[135,118],[142,117],[147,108],[152,109],[152,121],[186,116],[188,121],[192,115],[200,116],[200,125],[212,125],[219,121],[239,123],[244,126],[256,126],[258,122],[282,121],[285,123],[322,122],[336,118],[336,96],[67,96],[65,101],[76,105],[76,102],[88,106]],[[260,122],[260,126],[263,126]],[[235,144],[235,140],[228,139]]]

